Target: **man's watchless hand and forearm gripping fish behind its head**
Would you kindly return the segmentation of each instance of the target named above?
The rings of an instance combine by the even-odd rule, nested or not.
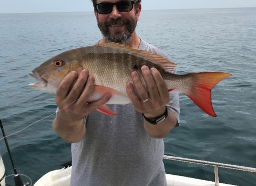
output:
[[[106,94],[96,102],[87,104],[93,88],[94,78],[89,77],[87,70],[81,71],[78,78],[77,72],[70,72],[61,81],[55,98],[59,112],[52,127],[64,141],[81,141],[86,132],[84,118],[111,98],[110,94]]]

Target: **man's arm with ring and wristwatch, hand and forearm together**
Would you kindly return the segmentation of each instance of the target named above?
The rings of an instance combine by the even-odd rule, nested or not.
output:
[[[132,100],[134,108],[138,112],[143,113],[149,120],[155,120],[165,113],[166,105],[170,102],[169,92],[159,71],[155,68],[148,69],[147,66],[142,66],[141,70],[147,84],[148,92],[143,87],[137,72],[132,72],[131,77],[134,88],[137,90],[139,96],[135,94],[130,82],[126,84],[126,91]],[[147,101],[143,102],[143,100]],[[164,138],[177,124],[177,117],[168,109],[168,116],[161,123],[153,125],[144,119],[143,124],[146,132],[151,137]]]

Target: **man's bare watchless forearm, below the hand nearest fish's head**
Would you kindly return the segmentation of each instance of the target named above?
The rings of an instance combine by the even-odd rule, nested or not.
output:
[[[52,128],[64,141],[69,143],[81,141],[86,131],[83,120],[72,121],[70,118],[60,115],[53,120]]]

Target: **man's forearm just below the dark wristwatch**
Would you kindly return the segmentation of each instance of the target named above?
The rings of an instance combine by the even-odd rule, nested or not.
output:
[[[177,124],[177,118],[172,111],[168,109],[168,116],[164,121],[153,125],[144,119],[144,128],[153,138],[165,138]]]

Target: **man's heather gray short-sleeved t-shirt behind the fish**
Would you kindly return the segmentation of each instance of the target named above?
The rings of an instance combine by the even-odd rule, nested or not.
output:
[[[171,58],[141,40],[140,50]],[[84,138],[72,143],[70,186],[165,186],[164,141],[150,137],[132,104],[108,105],[117,116],[89,114]],[[179,121],[179,96],[167,105]]]

